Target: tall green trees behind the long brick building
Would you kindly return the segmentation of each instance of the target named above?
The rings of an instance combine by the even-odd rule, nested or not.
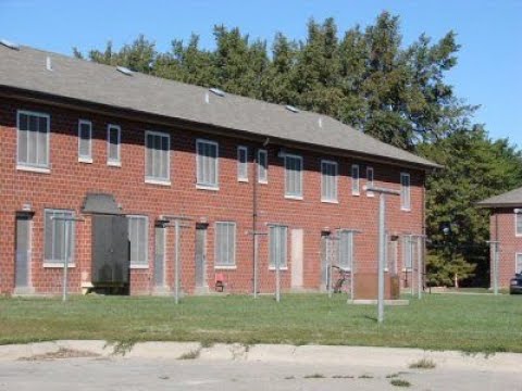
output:
[[[333,116],[445,169],[427,179],[428,273],[433,283],[487,283],[486,197],[522,185],[522,154],[509,140],[492,140],[473,124],[478,106],[456,97],[446,75],[457,65],[455,31],[406,46],[400,18],[388,12],[339,34],[334,18],[309,21],[303,40],[277,33],[269,50],[239,28],[215,26],[215,48],[199,36],[174,39],[159,52],[144,36],[120,50],[77,58]],[[480,80],[477,80],[480,83]]]

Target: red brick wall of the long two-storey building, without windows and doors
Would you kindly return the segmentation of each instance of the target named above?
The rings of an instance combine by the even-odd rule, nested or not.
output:
[[[50,174],[16,169],[16,110],[37,111],[50,114]],[[78,119],[92,122],[92,164],[78,162]],[[107,125],[122,128],[122,166],[107,165]],[[145,131],[166,131],[171,135],[171,186],[145,184]],[[220,143],[219,191],[196,189],[196,138],[202,137]],[[249,148],[249,181],[237,180],[236,147]],[[33,219],[32,281],[37,293],[59,293],[61,274],[59,268],[42,267],[44,258],[44,210],[71,209],[82,216],[82,204],[87,192],[112,193],[126,214],[149,217],[149,265],[147,269],[132,270],[132,292],[151,293],[154,260],[153,223],[160,215],[186,215],[192,218],[190,227],[182,237],[183,289],[194,290],[195,225],[208,222],[207,280],[212,287],[216,270],[214,260],[214,222],[234,220],[237,224],[236,265],[234,270],[217,270],[226,275],[226,290],[248,292],[252,287],[252,238],[247,231],[252,227],[253,150],[260,144],[237,142],[232,138],[208,136],[203,133],[178,128],[158,127],[146,123],[122,121],[115,117],[92,115],[73,110],[29,104],[17,101],[0,103],[0,162],[1,162],[1,220],[0,225],[0,289],[11,292],[14,286],[14,224],[15,212],[24,203],[30,203]],[[355,240],[355,256],[360,270],[375,269],[377,257],[377,209],[378,197],[370,198],[362,191],[365,185],[365,162],[334,157],[331,155],[293,150],[303,155],[303,200],[284,197],[283,159],[277,157],[278,146],[269,144],[269,184],[258,185],[258,229],[266,223],[288,225],[288,270],[282,273],[284,289],[290,287],[291,228],[303,228],[303,285],[320,287],[321,230],[328,227],[359,229],[362,234]],[[290,152],[290,151],[289,151]],[[338,163],[338,203],[321,202],[321,159]],[[361,195],[351,194],[350,166],[360,165]],[[375,185],[400,188],[399,167],[371,164],[375,172]],[[422,234],[423,229],[423,173],[403,169],[411,174],[411,212],[400,210],[398,197],[388,199],[388,230],[391,234]],[[90,219],[86,217],[76,228],[75,260],[71,268],[70,289],[80,290],[80,280],[90,275]],[[173,285],[174,231],[167,231],[166,280]],[[268,268],[268,238],[260,237],[260,290],[274,290],[274,275]],[[399,270],[401,267],[399,248]]]

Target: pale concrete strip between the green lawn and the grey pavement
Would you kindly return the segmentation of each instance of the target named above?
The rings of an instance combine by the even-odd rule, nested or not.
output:
[[[419,349],[371,348],[371,346],[323,346],[277,344],[214,344],[202,348],[198,342],[139,342],[134,345],[114,345],[105,341],[61,340],[28,344],[0,345],[0,362],[17,360],[53,358],[64,356],[123,356],[124,358],[178,360],[190,357],[196,361],[237,361],[261,363],[291,363],[324,365],[358,365],[366,367],[394,366],[407,368],[422,358],[432,360],[437,368],[496,370],[520,373],[522,354],[496,353],[467,354],[462,352],[423,351]],[[59,356],[59,354],[58,354]]]

